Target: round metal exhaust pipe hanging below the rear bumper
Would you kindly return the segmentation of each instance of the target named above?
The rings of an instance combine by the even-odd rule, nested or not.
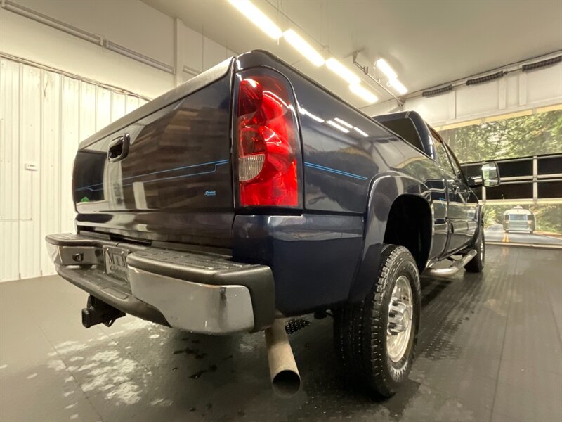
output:
[[[285,331],[285,319],[275,319],[266,329],[266,347],[273,391],[280,397],[294,396],[301,388],[301,376]]]

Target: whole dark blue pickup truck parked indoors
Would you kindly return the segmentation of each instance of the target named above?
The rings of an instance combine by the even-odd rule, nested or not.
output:
[[[266,331],[289,394],[299,376],[282,321],[329,313],[346,376],[389,396],[412,364],[419,274],[482,271],[471,187],[498,183],[489,163],[466,179],[417,113],[367,116],[252,51],[83,141],[77,233],[46,241],[58,274],[90,294],[86,327],[129,313]]]

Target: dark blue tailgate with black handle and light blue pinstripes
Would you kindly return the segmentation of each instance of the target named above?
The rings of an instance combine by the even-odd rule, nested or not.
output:
[[[230,247],[232,63],[81,143],[73,177],[79,230]]]

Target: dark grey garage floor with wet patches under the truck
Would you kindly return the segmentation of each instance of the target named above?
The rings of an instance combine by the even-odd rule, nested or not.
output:
[[[341,384],[329,317],[290,336],[304,387],[279,399],[262,333],[86,330],[86,293],[57,276],[1,283],[0,421],[562,420],[560,251],[490,246],[484,274],[422,287],[410,381],[373,402]]]

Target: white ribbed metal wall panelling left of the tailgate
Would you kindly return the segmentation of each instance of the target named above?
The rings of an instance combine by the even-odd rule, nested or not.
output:
[[[79,142],[143,103],[0,58],[0,281],[54,273],[44,237],[74,230]]]

